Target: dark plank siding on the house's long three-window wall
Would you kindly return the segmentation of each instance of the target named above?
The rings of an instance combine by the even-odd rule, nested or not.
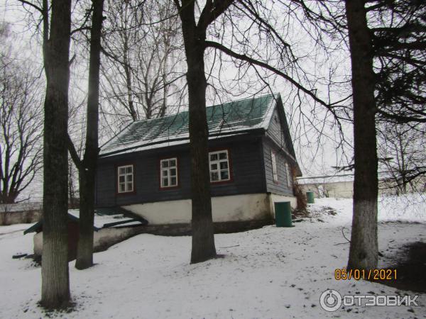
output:
[[[233,179],[224,184],[211,184],[212,196],[266,192],[260,137],[212,140],[209,147],[212,150],[229,150]],[[159,162],[169,157],[178,157],[179,186],[160,189]],[[134,165],[134,194],[116,194],[116,167],[121,164]],[[98,207],[171,201],[190,198],[190,195],[190,153],[187,145],[99,159],[96,192]]]

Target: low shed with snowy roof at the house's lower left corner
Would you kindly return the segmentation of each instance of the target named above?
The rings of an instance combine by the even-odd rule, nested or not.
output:
[[[80,211],[68,210],[68,259],[77,256],[77,242],[79,237]],[[94,252],[106,250],[117,242],[136,235],[141,226],[148,225],[148,221],[121,207],[97,208],[94,213]],[[26,229],[23,234],[35,233],[34,254],[41,256],[43,252],[43,220]]]

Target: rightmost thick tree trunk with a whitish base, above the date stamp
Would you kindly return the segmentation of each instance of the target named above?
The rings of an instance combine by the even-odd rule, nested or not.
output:
[[[354,100],[354,217],[348,268],[377,267],[377,150],[373,47],[364,0],[346,0]]]

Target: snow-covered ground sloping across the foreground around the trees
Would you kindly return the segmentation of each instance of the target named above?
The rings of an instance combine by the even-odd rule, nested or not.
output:
[[[426,242],[426,204],[417,197],[381,198],[380,265],[388,266],[403,245]],[[408,205],[408,203],[413,203]],[[426,318],[422,306],[350,307],[327,313],[320,307],[326,289],[343,294],[395,294],[368,281],[337,281],[346,266],[351,200],[317,199],[313,218],[293,228],[266,226],[244,233],[215,235],[223,257],[189,264],[190,237],[138,235],[94,255],[92,269],[70,262],[75,310],[50,318]],[[324,206],[337,215],[324,213]],[[322,213],[321,213],[322,211]],[[403,220],[403,223],[395,220]],[[411,222],[417,223],[411,223]],[[32,250],[28,225],[0,227],[0,317],[40,318],[40,268],[12,259]],[[399,291],[401,295],[416,293]],[[414,311],[414,312],[411,312]]]

